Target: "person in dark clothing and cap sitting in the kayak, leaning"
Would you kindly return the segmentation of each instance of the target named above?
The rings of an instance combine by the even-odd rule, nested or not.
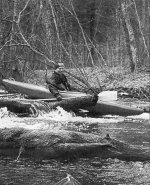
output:
[[[46,83],[48,85],[49,91],[57,98],[58,101],[62,100],[60,91],[71,91],[75,90],[69,84],[67,77],[64,74],[64,64],[58,63],[54,66],[54,72],[52,76],[48,79],[46,78]]]

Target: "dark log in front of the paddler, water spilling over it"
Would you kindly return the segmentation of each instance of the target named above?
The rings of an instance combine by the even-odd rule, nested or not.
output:
[[[70,98],[60,102],[44,102],[29,99],[0,99],[0,108],[7,107],[9,111],[17,113],[18,115],[34,115],[37,116],[39,111],[49,112],[56,109],[58,106],[65,110],[77,111],[85,107],[94,106],[98,100],[97,96],[85,96]]]

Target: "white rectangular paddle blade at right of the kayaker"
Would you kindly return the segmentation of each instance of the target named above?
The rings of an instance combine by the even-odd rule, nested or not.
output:
[[[115,101],[117,100],[117,91],[102,91],[98,94],[99,100]]]

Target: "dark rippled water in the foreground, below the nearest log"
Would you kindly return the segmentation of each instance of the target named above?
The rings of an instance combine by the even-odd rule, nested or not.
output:
[[[73,163],[58,161],[33,162],[21,159],[0,160],[0,184],[55,184],[66,176],[73,175],[83,185],[130,185],[150,184],[150,163],[125,162],[117,159],[80,159]]]

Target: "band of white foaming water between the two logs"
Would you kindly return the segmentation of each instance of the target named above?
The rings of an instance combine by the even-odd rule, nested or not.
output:
[[[20,118],[9,112],[7,108],[0,109],[0,128],[21,127],[31,130],[47,130],[59,131],[61,129],[83,131],[88,130],[92,124],[110,125],[110,123],[120,123],[128,119],[149,119],[148,113],[137,116],[112,116],[105,115],[99,118],[81,117],[73,112],[67,112],[61,107],[57,107],[49,113],[41,113],[38,117]]]

